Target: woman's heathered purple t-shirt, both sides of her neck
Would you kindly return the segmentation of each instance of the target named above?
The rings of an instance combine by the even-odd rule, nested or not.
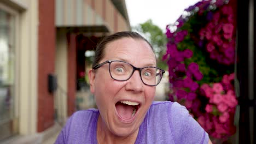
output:
[[[96,109],[75,112],[55,143],[97,143],[99,115]],[[135,143],[208,143],[208,140],[208,134],[184,106],[154,101],[139,127]]]

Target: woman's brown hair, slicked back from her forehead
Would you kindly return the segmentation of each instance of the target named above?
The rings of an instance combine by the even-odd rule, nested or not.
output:
[[[114,40],[118,40],[118,39],[121,39],[121,38],[133,38],[133,39],[144,40],[149,44],[149,46],[153,50],[153,47],[148,42],[148,40],[145,39],[144,37],[142,37],[142,35],[138,34],[137,32],[124,31],[124,32],[114,33],[112,35],[108,35],[107,37],[104,37],[100,41],[100,43],[97,44],[96,50],[95,50],[95,58],[94,58],[94,61],[92,63],[92,68],[95,67],[95,65],[97,65],[101,61],[101,59],[104,57],[104,49],[105,49],[106,45],[111,43]]]

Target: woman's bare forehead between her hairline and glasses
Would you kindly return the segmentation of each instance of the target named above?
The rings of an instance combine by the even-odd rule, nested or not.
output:
[[[150,45],[142,39],[122,38],[106,45],[104,60],[123,60],[134,64],[139,61],[156,64],[155,54]]]

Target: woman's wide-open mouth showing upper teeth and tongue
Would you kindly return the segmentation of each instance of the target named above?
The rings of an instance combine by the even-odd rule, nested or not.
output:
[[[115,104],[118,115],[124,120],[129,120],[134,117],[139,109],[139,106],[139,103],[127,100],[118,101],[118,103]]]

